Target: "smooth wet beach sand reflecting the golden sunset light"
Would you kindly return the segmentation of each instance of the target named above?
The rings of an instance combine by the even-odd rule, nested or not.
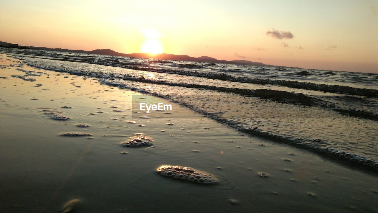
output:
[[[7,77],[0,79],[1,212],[60,212],[74,199],[75,212],[91,213],[378,212],[374,174],[248,136],[175,103],[172,114],[133,117],[132,96],[141,94],[94,78],[3,54],[0,65]],[[40,76],[11,77],[25,70]],[[71,132],[91,135],[60,135]],[[123,147],[133,133],[151,137],[153,147]],[[218,184],[171,179],[157,173],[161,165],[205,171]]]

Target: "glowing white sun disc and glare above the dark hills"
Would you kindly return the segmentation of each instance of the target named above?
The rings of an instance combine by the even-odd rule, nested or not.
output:
[[[164,49],[159,39],[159,37],[161,37],[162,35],[158,31],[153,29],[142,29],[142,31],[146,39],[141,46],[141,51],[150,54],[162,53]]]

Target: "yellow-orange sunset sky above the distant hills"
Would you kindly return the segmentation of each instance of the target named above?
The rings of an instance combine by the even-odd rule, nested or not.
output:
[[[0,0],[0,41],[378,73],[378,0]]]

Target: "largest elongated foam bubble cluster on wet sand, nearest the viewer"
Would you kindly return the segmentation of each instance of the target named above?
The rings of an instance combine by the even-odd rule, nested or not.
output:
[[[183,181],[190,181],[199,184],[218,183],[217,179],[212,174],[200,170],[195,170],[191,167],[163,165],[157,168],[157,171],[164,176],[180,179]]]

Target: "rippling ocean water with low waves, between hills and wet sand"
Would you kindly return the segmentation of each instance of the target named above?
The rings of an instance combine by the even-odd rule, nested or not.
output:
[[[236,130],[378,169],[378,74],[6,49],[35,68],[167,99]]]

